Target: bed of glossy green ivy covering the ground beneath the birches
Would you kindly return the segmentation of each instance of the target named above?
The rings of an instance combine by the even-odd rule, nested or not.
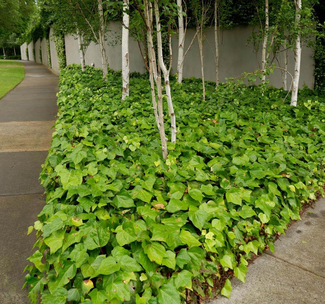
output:
[[[207,84],[202,102],[200,80],[172,81],[178,132],[164,160],[149,82],[131,78],[121,102],[120,78],[61,71],[46,205],[29,228],[32,303],[38,291],[44,304],[229,297],[229,279],[244,282],[252,254],[273,251],[322,193],[324,99],[301,90],[292,108],[283,90],[228,82]]]

